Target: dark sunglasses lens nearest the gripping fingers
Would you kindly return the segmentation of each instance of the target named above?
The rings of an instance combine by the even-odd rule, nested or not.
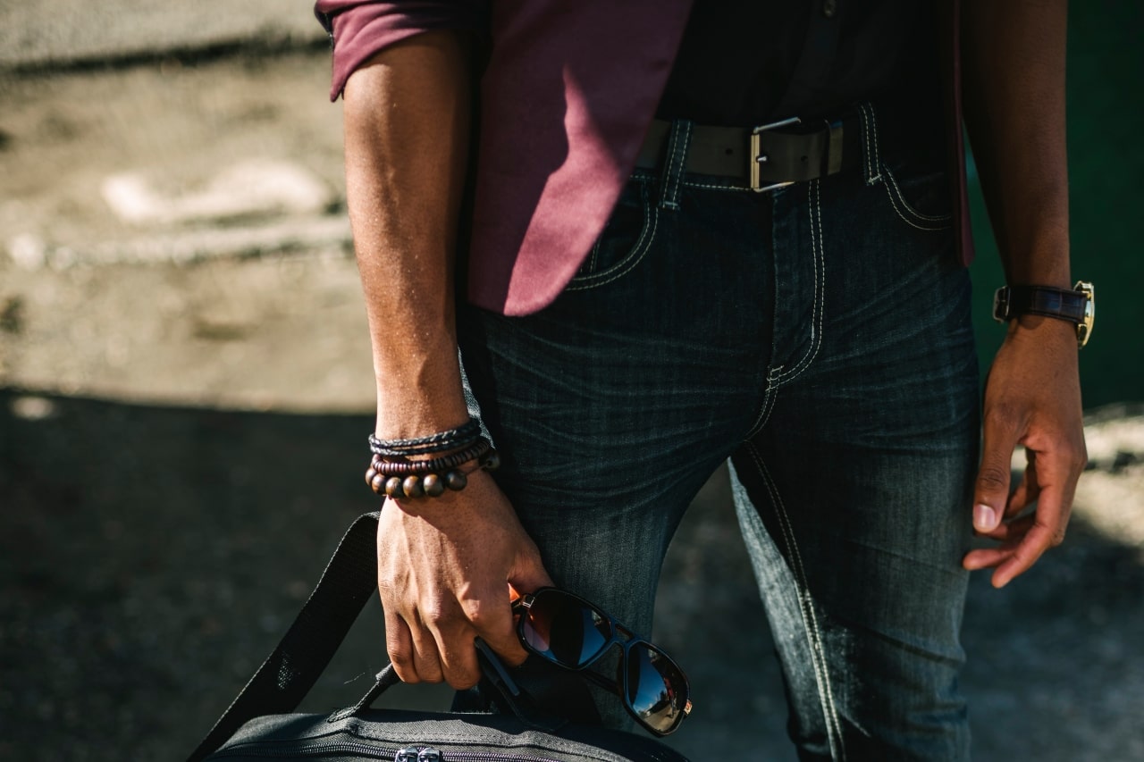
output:
[[[545,590],[522,620],[524,640],[549,661],[577,669],[604,649],[611,626],[598,611],[559,590]]]

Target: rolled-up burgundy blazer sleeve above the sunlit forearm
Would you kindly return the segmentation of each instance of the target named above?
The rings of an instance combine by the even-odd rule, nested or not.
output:
[[[334,50],[331,101],[337,100],[362,64],[396,42],[430,30],[485,33],[488,26],[487,0],[318,0],[313,14]]]

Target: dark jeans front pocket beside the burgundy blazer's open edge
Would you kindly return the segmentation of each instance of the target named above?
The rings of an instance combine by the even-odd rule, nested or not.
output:
[[[612,214],[567,291],[597,288],[622,278],[643,259],[656,237],[659,207],[651,200],[650,178],[623,186]]]

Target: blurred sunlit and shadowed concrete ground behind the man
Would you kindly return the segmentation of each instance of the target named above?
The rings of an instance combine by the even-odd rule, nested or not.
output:
[[[177,759],[373,508],[340,108],[309,13],[0,8],[0,757]],[[1144,423],[1098,418],[1066,545],[1006,590],[974,579],[977,759],[1144,759]],[[793,759],[718,475],[657,621],[698,706],[673,743]],[[310,707],[356,700],[380,626]]]

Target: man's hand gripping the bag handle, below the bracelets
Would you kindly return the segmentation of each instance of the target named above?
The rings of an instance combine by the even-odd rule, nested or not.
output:
[[[407,683],[442,680],[458,690],[480,678],[480,636],[507,662],[526,653],[513,626],[509,585],[551,585],[535,543],[484,470],[440,498],[387,499],[378,523],[378,588],[386,641]]]

